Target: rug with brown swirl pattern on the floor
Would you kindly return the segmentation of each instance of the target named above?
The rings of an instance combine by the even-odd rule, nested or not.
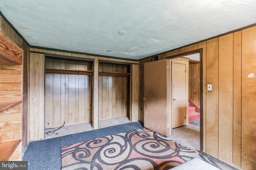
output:
[[[203,155],[146,128],[61,149],[62,170],[168,170],[192,158],[218,167]]]

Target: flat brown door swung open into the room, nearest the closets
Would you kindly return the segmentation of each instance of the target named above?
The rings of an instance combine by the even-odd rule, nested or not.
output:
[[[168,60],[144,64],[144,127],[169,136]]]

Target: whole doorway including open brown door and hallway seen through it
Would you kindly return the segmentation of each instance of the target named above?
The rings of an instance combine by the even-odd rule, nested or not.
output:
[[[199,57],[199,60],[190,59],[192,55]],[[187,62],[186,68],[182,66],[183,62]],[[202,72],[202,49],[144,64],[144,127],[170,137],[192,150],[202,152],[203,93],[200,87],[202,87],[203,77],[202,73],[197,77],[199,78],[197,95],[200,98],[197,97],[199,106],[196,109],[196,107],[193,108],[189,99],[189,62],[198,63],[198,73]],[[184,71],[186,74],[181,74]],[[181,86],[181,84],[186,85]],[[191,120],[194,117],[189,115],[189,111],[191,113],[198,111],[198,115],[192,114],[192,116],[197,117],[194,120],[199,121],[199,126],[189,123],[194,121]]]

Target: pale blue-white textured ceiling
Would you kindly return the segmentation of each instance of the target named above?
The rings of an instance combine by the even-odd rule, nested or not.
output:
[[[30,45],[129,59],[256,23],[256,0],[0,0],[0,11]]]

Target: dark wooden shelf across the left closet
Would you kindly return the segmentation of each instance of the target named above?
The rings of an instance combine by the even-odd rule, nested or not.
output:
[[[58,68],[45,68],[45,73],[48,74],[76,74],[76,75],[92,75],[92,70],[68,70]]]

